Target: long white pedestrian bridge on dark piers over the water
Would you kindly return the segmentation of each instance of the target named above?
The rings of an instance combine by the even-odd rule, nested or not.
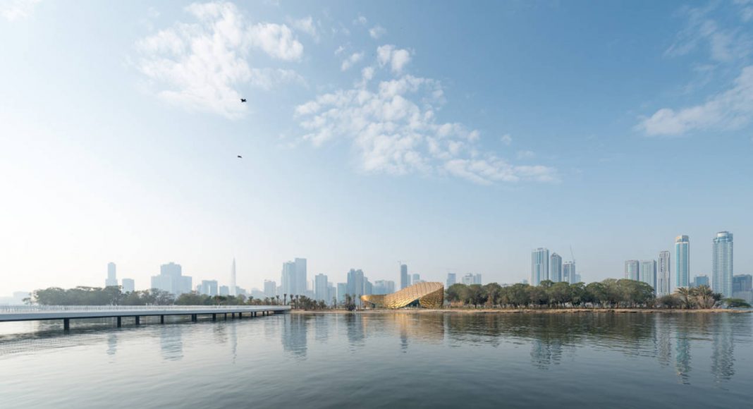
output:
[[[142,316],[159,316],[160,323],[164,324],[165,316],[190,316],[191,321],[196,322],[199,316],[211,316],[212,321],[216,321],[218,316],[227,319],[227,316],[230,315],[230,319],[242,319],[243,317],[268,316],[274,313],[287,313],[288,311],[290,311],[290,307],[283,305],[2,306],[0,307],[0,322],[60,319],[63,329],[68,330],[71,327],[72,319],[114,318],[116,325],[120,327],[123,317],[133,318],[136,325],[140,325]]]

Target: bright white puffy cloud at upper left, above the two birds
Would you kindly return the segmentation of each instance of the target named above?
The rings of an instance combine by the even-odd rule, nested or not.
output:
[[[244,84],[270,88],[301,82],[290,69],[250,66],[252,51],[276,60],[297,61],[303,45],[288,26],[249,23],[235,5],[194,3],[185,11],[195,23],[175,23],[136,43],[137,69],[157,94],[184,108],[237,118],[245,111],[236,88]]]

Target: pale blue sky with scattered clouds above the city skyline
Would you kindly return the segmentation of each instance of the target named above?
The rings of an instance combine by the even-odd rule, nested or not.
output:
[[[753,273],[751,1],[75,5],[0,0],[0,294]]]

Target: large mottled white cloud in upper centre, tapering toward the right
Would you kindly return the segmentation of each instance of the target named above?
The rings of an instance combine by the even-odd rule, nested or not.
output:
[[[389,51],[389,52],[388,52]],[[378,66],[392,69],[395,47],[380,47]],[[303,141],[314,146],[346,140],[363,172],[451,175],[479,184],[557,180],[549,166],[517,166],[480,150],[480,134],[459,122],[442,122],[439,81],[398,74],[373,81],[375,67],[361,70],[351,89],[324,93],[298,105],[295,117]]]

